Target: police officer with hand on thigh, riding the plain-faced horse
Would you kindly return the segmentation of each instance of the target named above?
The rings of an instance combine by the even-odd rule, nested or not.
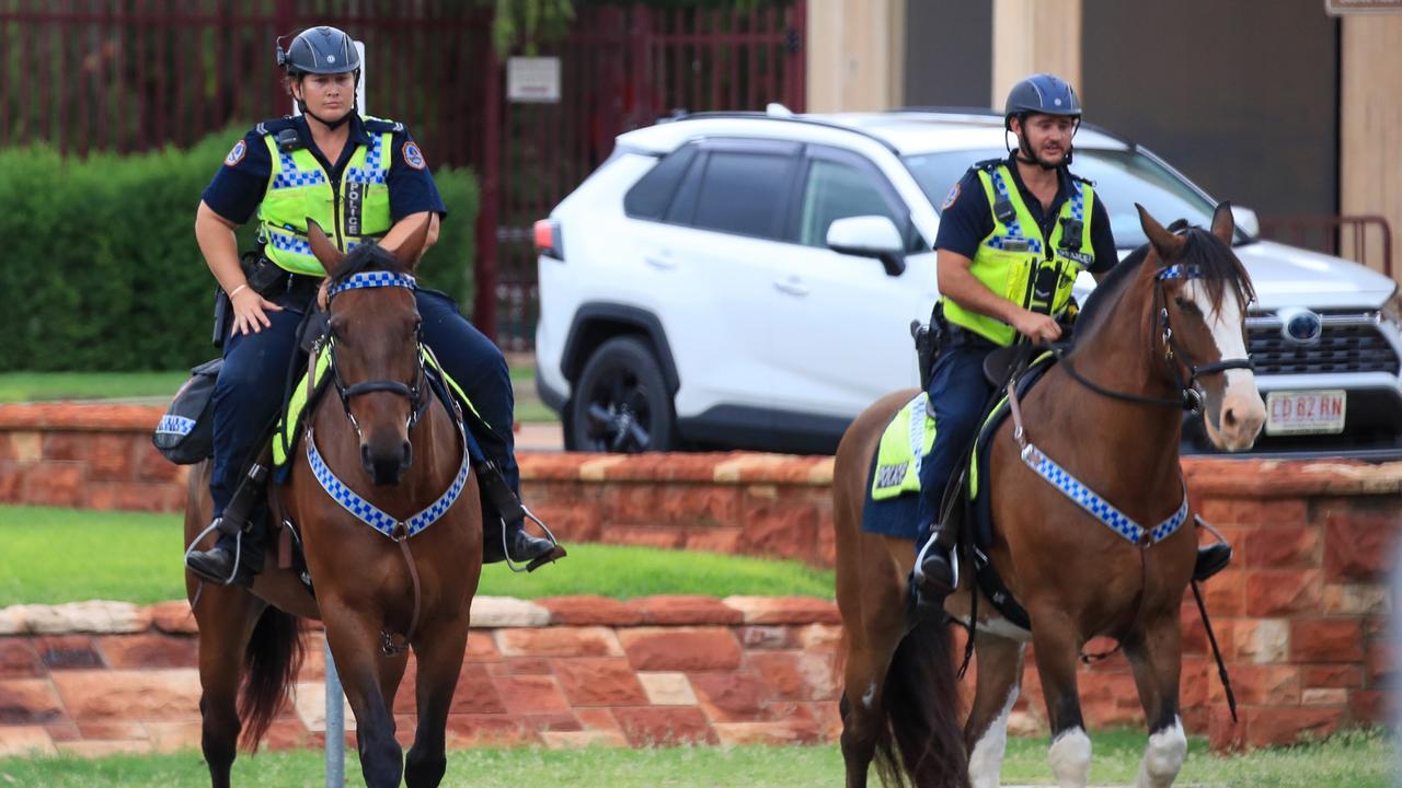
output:
[[[325,271],[307,243],[307,219],[327,229],[341,251],[367,241],[395,248],[428,220],[428,248],[447,213],[404,125],[360,116],[355,98],[360,55],[350,36],[332,27],[308,28],[286,52],[278,48],[278,63],[301,115],[258,123],[238,140],[195,216],[199,248],[231,311],[213,398],[216,520],[230,508],[243,468],[262,449],[297,351],[297,328],[325,286]],[[245,269],[234,227],[255,210],[259,251]],[[492,428],[494,435],[478,436],[479,443],[517,492],[512,386],[501,349],[447,296],[419,289],[415,300],[423,342]],[[262,565],[262,519],[254,512],[247,526],[220,529],[219,544],[189,552],[186,566],[215,582],[251,583]],[[486,538],[485,558],[499,561],[503,541],[516,562],[552,550],[550,540],[527,534],[522,524],[513,519],[505,523],[503,538]]]

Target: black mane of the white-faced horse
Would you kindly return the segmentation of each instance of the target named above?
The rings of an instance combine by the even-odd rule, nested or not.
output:
[[[1231,294],[1242,308],[1256,297],[1256,290],[1251,285],[1246,268],[1242,266],[1241,261],[1231,251],[1231,247],[1223,243],[1221,238],[1202,227],[1189,226],[1182,219],[1169,224],[1168,229],[1183,238],[1183,245],[1173,258],[1161,261],[1161,265],[1185,264],[1196,266],[1203,286],[1207,287],[1207,297],[1213,303],[1213,311],[1221,310],[1223,297],[1227,294],[1228,287],[1231,287]],[[1077,317],[1077,345],[1094,334],[1101,322],[1105,321],[1105,314],[1110,311],[1110,306],[1119,303],[1127,290],[1127,283],[1134,280],[1140,266],[1150,258],[1148,252],[1150,244],[1138,247],[1110,269],[1109,276],[1095,287],[1081,308],[1080,317]]]

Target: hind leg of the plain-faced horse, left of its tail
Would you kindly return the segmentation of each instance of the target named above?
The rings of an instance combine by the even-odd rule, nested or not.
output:
[[[229,787],[238,754],[238,683],[244,651],[264,604],[238,587],[205,583],[195,606],[199,623],[200,749],[215,788]]]

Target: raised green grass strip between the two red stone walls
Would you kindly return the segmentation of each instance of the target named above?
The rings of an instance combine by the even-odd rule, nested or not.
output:
[[[111,599],[149,604],[185,595],[182,517],[0,506],[0,607]],[[569,557],[530,575],[505,564],[478,593],[533,599],[660,593],[802,595],[831,599],[833,573],[795,561],[569,544]]]

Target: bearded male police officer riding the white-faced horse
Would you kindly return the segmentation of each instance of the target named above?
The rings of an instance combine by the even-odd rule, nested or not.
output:
[[[921,464],[917,519],[930,531],[914,572],[923,604],[938,604],[958,582],[958,534],[937,509],[991,394],[984,358],[1014,342],[1060,338],[1057,318],[1077,273],[1099,279],[1119,261],[1099,195],[1067,168],[1080,122],[1081,102],[1064,80],[1022,80],[1004,107],[1018,149],[974,164],[941,209],[935,266],[949,339],[930,379],[937,432]]]

